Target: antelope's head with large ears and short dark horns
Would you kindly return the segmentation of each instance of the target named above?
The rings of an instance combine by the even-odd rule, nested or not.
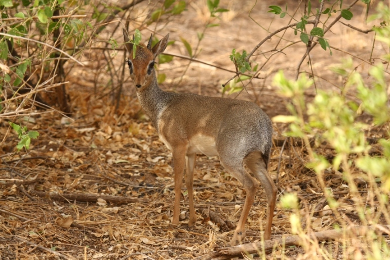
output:
[[[125,47],[129,52],[128,65],[130,77],[132,78],[137,90],[143,90],[145,87],[156,82],[154,70],[154,59],[161,54],[168,44],[169,33],[160,42],[151,48],[153,35],[150,35],[147,46],[140,43],[136,46],[135,57],[133,58],[133,44],[129,40],[129,36],[123,29],[123,38]]]

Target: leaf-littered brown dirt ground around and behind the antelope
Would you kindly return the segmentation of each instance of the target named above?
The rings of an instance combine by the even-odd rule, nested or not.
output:
[[[235,70],[229,60],[233,48],[249,52],[269,32],[287,24],[288,17],[281,19],[267,13],[270,2],[221,1],[220,6],[231,11],[223,14],[220,21],[215,20],[220,26],[206,30],[196,58]],[[344,4],[347,2],[344,1]],[[283,7],[285,3],[272,2]],[[134,17],[147,12],[148,8],[147,1],[140,4],[133,11]],[[203,1],[193,1],[187,9],[183,16],[172,18],[166,27],[149,28],[159,31],[159,39],[169,32],[170,39],[176,41],[167,48],[167,53],[188,55],[180,37],[192,46],[197,45],[197,32],[203,30],[208,19],[207,7]],[[288,10],[295,9],[295,1],[288,1]],[[363,22],[363,6],[358,5],[352,11],[355,14],[353,20],[344,22],[363,30],[370,28],[371,25]],[[296,17],[301,13],[302,9],[298,9]],[[137,25],[135,21],[130,29]],[[348,53],[354,53],[358,56],[354,58],[354,65],[358,70],[367,71],[366,67],[370,65],[360,59],[370,57],[373,34],[359,33],[337,24],[327,36],[332,47],[343,51],[333,49],[330,56],[329,51],[317,46],[310,53],[313,73],[318,79],[317,89],[339,91],[336,86],[341,86],[343,79],[335,77],[329,66],[340,63],[342,58],[351,57]],[[144,30],[143,39],[147,37],[148,31]],[[120,30],[115,38],[122,42]],[[261,65],[272,54],[270,50],[280,50],[297,43],[272,56],[259,75],[263,79],[254,80],[237,97],[256,102],[269,117],[288,114],[288,101],[278,94],[277,87],[272,85],[272,77],[282,69],[288,78],[295,78],[298,60],[306,50],[293,30],[288,30],[284,40],[277,45],[279,40],[275,36],[267,41],[255,54],[253,62]],[[374,45],[373,57],[383,53],[379,43]],[[111,52],[115,56],[116,69],[122,65],[123,54],[122,50]],[[27,154],[13,154],[17,136],[5,127],[5,123],[0,128],[0,136],[7,136],[0,152],[3,153],[0,159],[0,258],[193,259],[216,247],[228,246],[245,199],[241,183],[225,172],[217,158],[199,156],[194,176],[197,226],[186,227],[188,205],[183,187],[181,226],[171,230],[169,224],[174,198],[172,156],[143,114],[128,76],[118,112],[114,111],[107,67],[99,65],[99,60],[104,59],[102,55],[93,50],[86,52],[83,60],[86,67],[73,69],[67,77],[72,120],[54,112],[29,119],[28,129],[38,131],[40,137],[32,141]],[[191,62],[180,80],[187,64],[188,60],[174,58],[171,63],[160,65],[160,73],[167,75],[161,87],[177,92],[221,96],[221,84],[234,75],[215,66]],[[310,69],[307,61],[303,62],[301,71]],[[308,100],[315,91],[312,87],[306,92]],[[236,98],[237,95],[229,97]],[[275,124],[274,130],[275,139],[283,139],[281,133],[285,126]],[[323,154],[332,155],[331,150],[318,149],[323,149]],[[304,157],[303,151],[303,148],[296,147],[295,151],[290,150],[281,157],[277,186],[278,196],[286,191],[295,191],[301,199],[302,212],[308,213],[314,211],[324,196],[316,175],[299,159]],[[280,153],[280,145],[275,144],[269,163],[269,172],[274,179]],[[340,175],[328,172],[325,179],[343,205],[352,204]],[[58,196],[49,197],[49,193]],[[66,197],[69,194],[79,197]],[[114,197],[88,202],[87,195]],[[121,198],[128,200],[118,201]],[[266,196],[260,188],[247,221],[245,242],[261,238],[265,208]],[[211,218],[210,211],[218,213],[218,217]],[[277,207],[272,227],[274,238],[291,234],[288,213]],[[348,211],[347,217],[351,223],[359,219],[353,209]],[[302,222],[310,224],[312,230],[320,231],[332,229],[337,219],[333,214],[322,217],[311,214]],[[303,253],[301,248],[286,251],[291,259]],[[278,257],[280,253],[280,250],[274,250],[267,257]],[[335,246],[334,256],[337,257],[338,253]]]

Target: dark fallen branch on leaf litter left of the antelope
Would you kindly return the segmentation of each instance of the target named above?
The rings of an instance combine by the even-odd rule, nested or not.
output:
[[[31,191],[33,195],[39,197],[50,198],[52,200],[60,201],[79,201],[79,202],[97,202],[98,199],[103,199],[111,204],[126,204],[126,203],[135,203],[135,202],[146,202],[144,199],[134,199],[128,197],[120,196],[110,196],[110,195],[96,195],[96,194],[85,194],[85,193],[47,193],[47,192],[37,192]]]

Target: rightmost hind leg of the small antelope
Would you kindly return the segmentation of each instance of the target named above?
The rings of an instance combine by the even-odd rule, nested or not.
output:
[[[274,210],[276,204],[277,188],[274,180],[268,174],[266,165],[260,154],[252,154],[246,160],[248,168],[252,171],[254,176],[261,182],[267,195],[267,220],[264,230],[264,240],[271,238],[272,218],[274,217]]]

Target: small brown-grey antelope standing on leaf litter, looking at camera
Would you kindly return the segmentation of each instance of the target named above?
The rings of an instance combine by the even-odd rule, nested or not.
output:
[[[230,244],[238,245],[245,237],[245,221],[258,187],[258,182],[245,170],[244,163],[267,194],[264,239],[270,239],[277,188],[267,172],[272,144],[272,125],[268,116],[248,101],[163,91],[157,84],[154,59],[167,47],[169,34],[154,47],[151,47],[150,36],[147,46],[140,44],[136,47],[135,58],[133,44],[125,29],[123,36],[129,52],[130,77],[137,88],[139,102],[173,155],[175,205],[172,224],[179,224],[184,166],[189,200],[188,225],[193,226],[196,221],[192,195],[196,155],[219,156],[221,165],[243,183],[247,193]]]

